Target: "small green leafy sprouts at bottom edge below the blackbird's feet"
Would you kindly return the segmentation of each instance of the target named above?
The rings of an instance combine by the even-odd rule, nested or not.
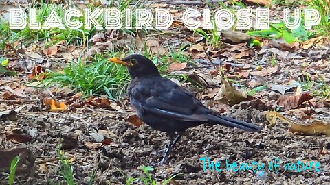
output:
[[[153,168],[150,167],[150,166],[146,167],[146,166],[142,165],[142,171],[143,171],[144,175],[146,175],[146,177],[137,177],[137,178],[129,177],[126,180],[126,185],[131,185],[131,184],[133,184],[136,181],[143,182],[145,185],[156,185],[156,180],[153,179],[153,177],[151,177],[151,174],[150,174],[150,171],[153,171]],[[177,175],[173,175],[169,179],[164,180],[164,182],[162,183],[162,185],[168,184],[170,182],[170,180],[172,180]]]

